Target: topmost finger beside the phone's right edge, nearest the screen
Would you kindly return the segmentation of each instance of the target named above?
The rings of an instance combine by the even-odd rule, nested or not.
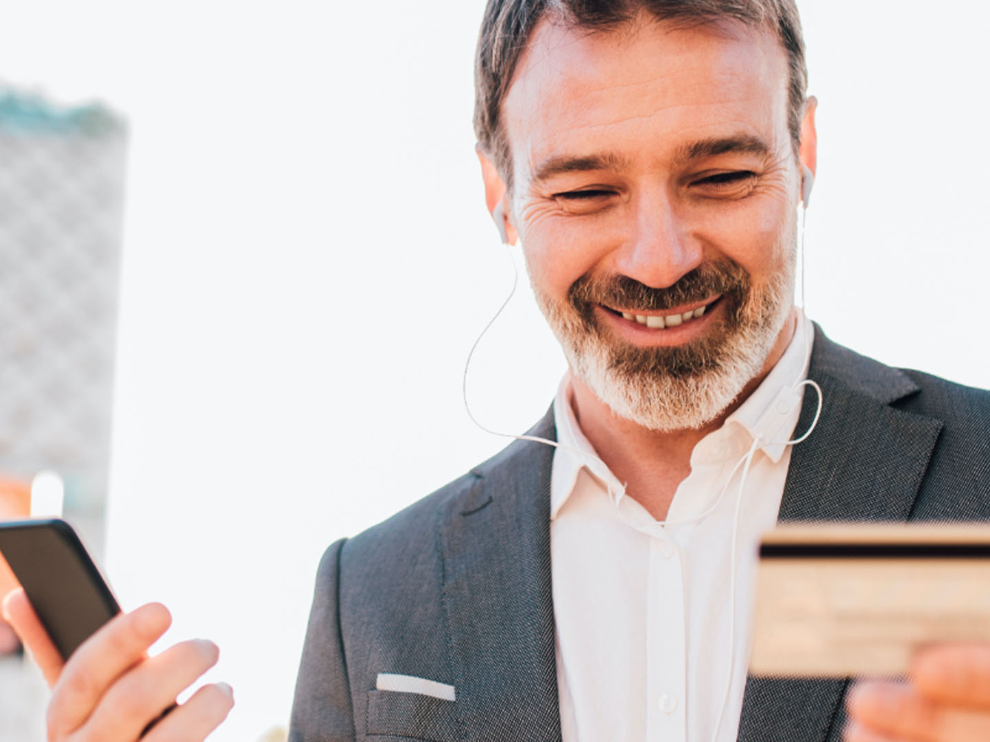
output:
[[[145,659],[171,620],[164,605],[148,603],[115,616],[86,639],[65,663],[51,694],[49,735],[81,726],[111,685]]]

